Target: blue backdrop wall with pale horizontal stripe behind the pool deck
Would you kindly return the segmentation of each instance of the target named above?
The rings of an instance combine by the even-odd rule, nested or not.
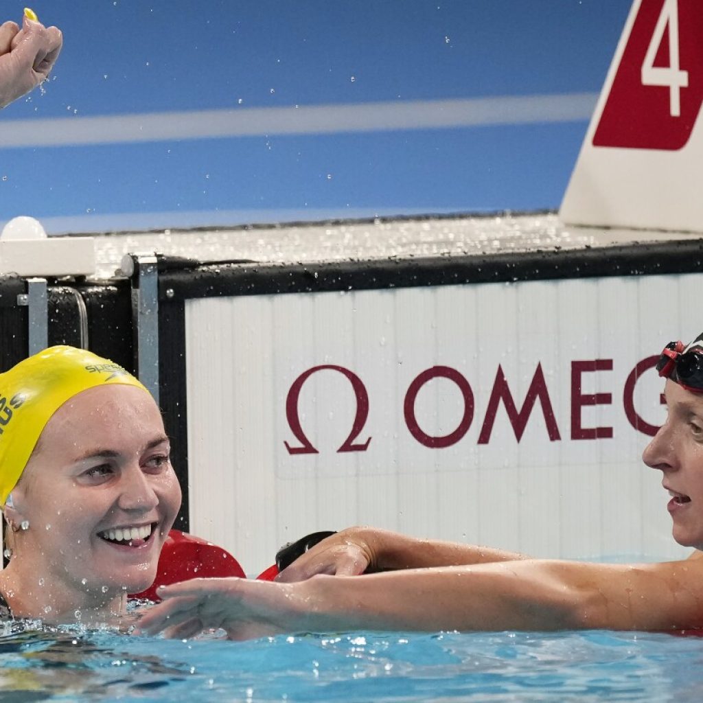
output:
[[[45,89],[0,113],[0,224],[558,207],[629,6],[38,1],[65,44]],[[464,117],[446,122],[451,106]],[[285,108],[302,115],[292,133]]]

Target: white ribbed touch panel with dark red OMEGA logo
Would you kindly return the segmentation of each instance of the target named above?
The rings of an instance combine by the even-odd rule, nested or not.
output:
[[[641,452],[701,277],[195,299],[191,531],[247,573],[374,524],[544,557],[674,557]]]

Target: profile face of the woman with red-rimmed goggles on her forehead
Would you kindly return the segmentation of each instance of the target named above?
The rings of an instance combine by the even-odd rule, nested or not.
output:
[[[669,491],[673,538],[703,549],[703,395],[666,381],[668,415],[643,453],[645,464],[662,471]]]

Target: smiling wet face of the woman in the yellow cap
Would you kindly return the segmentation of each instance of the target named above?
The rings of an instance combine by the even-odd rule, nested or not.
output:
[[[150,586],[181,505],[151,396],[105,385],[63,404],[41,433],[13,504],[15,520],[30,522],[15,533],[9,567],[32,576],[23,583],[40,575],[86,600]]]

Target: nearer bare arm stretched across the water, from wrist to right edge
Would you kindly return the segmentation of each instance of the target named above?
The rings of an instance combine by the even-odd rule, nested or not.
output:
[[[436,631],[703,626],[703,568],[686,562],[605,565],[515,560],[312,579],[312,629],[349,626]],[[300,584],[301,586],[303,584]]]

